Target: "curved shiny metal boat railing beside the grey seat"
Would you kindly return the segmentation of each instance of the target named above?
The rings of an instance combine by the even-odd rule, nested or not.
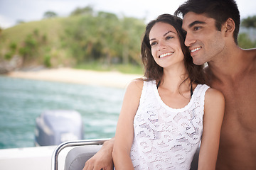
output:
[[[75,140],[63,142],[55,148],[52,156],[52,170],[58,170],[58,155],[60,151],[66,147],[78,147],[84,145],[102,145],[105,141],[110,139],[97,139],[97,140]]]

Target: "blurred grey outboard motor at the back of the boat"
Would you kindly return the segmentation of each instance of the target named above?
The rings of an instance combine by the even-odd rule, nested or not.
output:
[[[36,118],[36,146],[60,145],[83,139],[83,126],[77,111],[45,111]]]

